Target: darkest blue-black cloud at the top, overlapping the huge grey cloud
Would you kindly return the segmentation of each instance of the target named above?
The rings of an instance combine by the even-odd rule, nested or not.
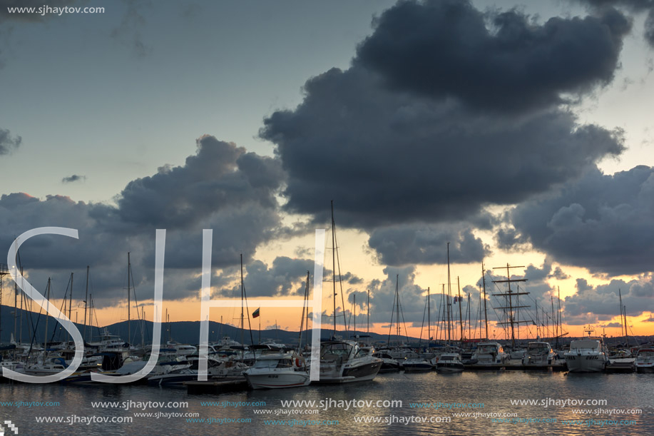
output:
[[[354,65],[419,96],[457,98],[490,111],[524,111],[564,101],[613,80],[630,23],[599,16],[533,24],[516,10],[486,17],[468,1],[400,1],[374,20]]]

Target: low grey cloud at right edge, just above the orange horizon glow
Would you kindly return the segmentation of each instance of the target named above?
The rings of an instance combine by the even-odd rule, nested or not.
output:
[[[608,321],[620,316],[620,293],[627,316],[643,315],[654,311],[654,280],[643,275],[635,280],[611,280],[606,285],[593,287],[585,279],[578,278],[576,293],[566,297],[564,321],[582,325],[588,322]],[[619,292],[618,292],[619,291]],[[594,320],[594,321],[593,321]]]

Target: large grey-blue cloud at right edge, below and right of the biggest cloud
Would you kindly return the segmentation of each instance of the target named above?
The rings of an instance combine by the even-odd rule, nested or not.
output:
[[[499,233],[501,248],[530,244],[559,263],[593,273],[654,270],[654,169],[637,166],[605,175],[597,168],[556,193],[509,213],[514,228]]]

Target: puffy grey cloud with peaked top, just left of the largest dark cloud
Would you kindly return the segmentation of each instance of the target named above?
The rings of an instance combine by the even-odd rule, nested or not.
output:
[[[258,203],[275,206],[281,171],[271,158],[245,153],[213,136],[198,139],[198,153],[184,166],[159,168],[128,183],[118,198],[123,221],[136,225],[193,228],[225,208]]]

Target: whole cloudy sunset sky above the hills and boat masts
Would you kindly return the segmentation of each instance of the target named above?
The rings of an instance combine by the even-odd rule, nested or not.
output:
[[[652,335],[653,54],[650,0],[0,0],[0,248],[78,229],[29,240],[20,265],[57,305],[73,273],[78,321],[88,265],[100,325],[127,319],[130,253],[131,316],[151,320],[165,228],[165,308],[199,320],[203,229],[213,298],[240,298],[242,255],[251,312],[302,295],[317,228],[331,280],[333,201],[341,324],[356,307],[387,332],[396,285],[409,335],[426,337],[428,289],[432,321],[448,288],[475,319],[483,262],[489,294],[506,265],[527,279],[522,337],[548,335],[533,324],[559,293],[571,336],[620,335],[620,295],[630,334]],[[261,313],[299,328],[297,309]]]

